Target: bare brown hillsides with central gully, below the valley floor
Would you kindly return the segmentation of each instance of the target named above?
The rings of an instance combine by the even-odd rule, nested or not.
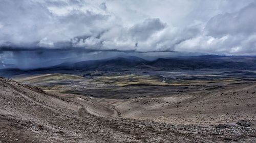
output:
[[[0,142],[256,142],[255,87],[110,99],[0,78]],[[235,124],[243,119],[254,125]],[[227,122],[233,126],[215,126]]]

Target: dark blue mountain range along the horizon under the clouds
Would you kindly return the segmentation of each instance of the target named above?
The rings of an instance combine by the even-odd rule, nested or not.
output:
[[[47,68],[37,69],[1,69],[0,75],[11,72],[22,74],[24,72],[38,71],[129,71],[129,70],[201,70],[201,69],[228,69],[228,70],[256,70],[255,56],[180,56],[175,58],[159,58],[156,60],[145,60],[136,56],[123,56],[104,60],[92,60],[81,62],[67,62]]]

